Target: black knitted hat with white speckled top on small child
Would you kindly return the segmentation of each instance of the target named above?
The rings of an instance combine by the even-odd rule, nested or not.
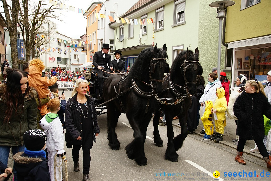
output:
[[[23,138],[26,149],[30,151],[41,150],[47,140],[46,134],[40,129],[31,129],[26,131]]]

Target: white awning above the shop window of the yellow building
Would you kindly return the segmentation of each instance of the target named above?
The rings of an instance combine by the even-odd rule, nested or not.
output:
[[[263,36],[258,38],[252,38],[247,40],[240,40],[236,42],[228,43],[229,48],[237,48],[237,47],[244,47],[244,46],[254,46],[254,45],[263,45],[271,43],[271,36]]]

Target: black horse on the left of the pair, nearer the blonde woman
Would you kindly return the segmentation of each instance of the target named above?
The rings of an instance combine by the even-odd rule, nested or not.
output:
[[[162,91],[164,72],[169,72],[166,50],[166,44],[161,49],[157,49],[156,45],[143,49],[126,77],[115,74],[104,82],[105,101],[116,95],[119,98],[106,103],[108,145],[112,150],[119,150],[120,142],[115,129],[121,113],[126,113],[135,139],[125,150],[128,158],[135,159],[141,166],[147,164],[144,142],[147,126],[157,105],[153,95]]]

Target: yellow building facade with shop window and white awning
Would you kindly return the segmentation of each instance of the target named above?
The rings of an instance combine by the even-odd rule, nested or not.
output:
[[[232,80],[240,74],[248,80],[266,80],[271,70],[270,8],[270,1],[260,0],[235,0],[227,8],[226,65],[232,69]]]

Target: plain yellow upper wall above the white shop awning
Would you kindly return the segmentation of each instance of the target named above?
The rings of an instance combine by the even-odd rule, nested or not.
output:
[[[241,0],[235,0],[235,5],[227,8],[225,42],[271,34],[270,0],[263,0],[241,11],[240,7]]]

